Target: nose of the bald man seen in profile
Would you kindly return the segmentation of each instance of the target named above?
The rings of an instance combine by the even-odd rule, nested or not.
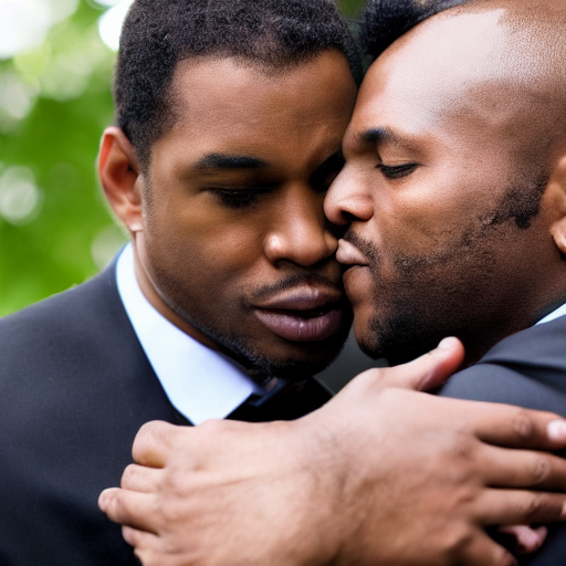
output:
[[[353,168],[344,167],[326,193],[326,218],[338,226],[367,222],[374,216],[374,202],[364,185],[364,179]]]

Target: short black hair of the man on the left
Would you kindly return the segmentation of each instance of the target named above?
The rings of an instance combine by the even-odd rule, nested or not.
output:
[[[226,56],[285,70],[333,48],[359,84],[359,50],[333,0],[136,0],[114,75],[116,124],[148,165],[171,125],[167,95],[179,61]]]

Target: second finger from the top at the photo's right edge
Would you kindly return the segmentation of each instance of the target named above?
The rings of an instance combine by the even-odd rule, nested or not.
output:
[[[478,458],[483,481],[492,488],[566,492],[566,460],[557,455],[482,444]]]

